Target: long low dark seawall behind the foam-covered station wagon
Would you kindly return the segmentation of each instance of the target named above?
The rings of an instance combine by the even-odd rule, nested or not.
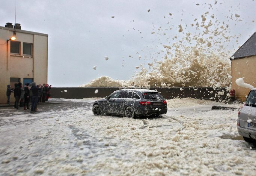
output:
[[[98,93],[95,93],[96,89]],[[160,92],[165,99],[189,97],[212,101],[226,100],[228,99],[227,93],[229,93],[225,87],[52,87],[51,98],[105,97],[119,89],[152,89]]]

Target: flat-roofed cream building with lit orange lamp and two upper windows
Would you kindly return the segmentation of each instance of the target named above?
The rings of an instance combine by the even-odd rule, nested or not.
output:
[[[0,103],[7,102],[8,84],[47,83],[47,61],[48,34],[21,30],[20,24],[0,26]]]

